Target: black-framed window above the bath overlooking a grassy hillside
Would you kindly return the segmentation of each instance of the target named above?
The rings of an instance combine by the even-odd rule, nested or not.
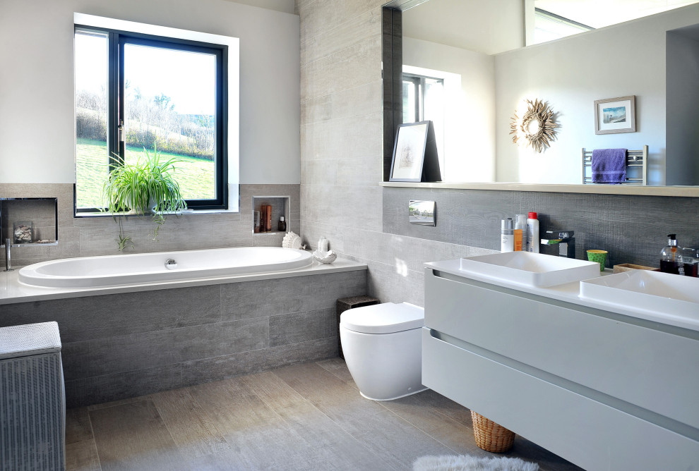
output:
[[[175,159],[187,207],[226,208],[226,62],[225,45],[76,25],[77,212],[144,149]]]

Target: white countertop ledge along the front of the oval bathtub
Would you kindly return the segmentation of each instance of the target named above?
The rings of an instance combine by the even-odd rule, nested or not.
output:
[[[366,270],[366,264],[353,262],[348,259],[336,259],[331,264],[321,264],[313,261],[311,267],[289,271],[267,271],[259,274],[244,274],[235,276],[215,276],[210,278],[162,281],[158,283],[138,283],[120,286],[100,286],[98,288],[43,288],[20,283],[18,273],[20,269],[13,271],[0,271],[0,305],[14,302],[30,302],[39,300],[52,300],[62,298],[79,298],[82,296],[97,296],[118,293],[132,293],[134,291],[152,291],[169,288],[184,288],[187,286],[206,286],[225,283],[240,283],[242,281],[268,280],[275,278],[289,278],[292,276],[318,275],[323,273],[337,273],[340,271]],[[1,307],[0,307],[1,311]]]

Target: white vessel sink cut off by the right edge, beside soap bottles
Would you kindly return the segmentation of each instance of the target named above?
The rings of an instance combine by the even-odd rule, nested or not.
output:
[[[663,318],[699,320],[699,278],[633,270],[580,283],[580,298]]]

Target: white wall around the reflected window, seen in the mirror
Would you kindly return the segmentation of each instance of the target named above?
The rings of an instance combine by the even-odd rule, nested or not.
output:
[[[403,65],[460,77],[445,80],[444,181],[490,182],[495,178],[495,68],[487,54],[403,37]],[[429,75],[429,74],[426,74]],[[434,73],[436,78],[442,78]],[[456,88],[456,90],[454,90]]]

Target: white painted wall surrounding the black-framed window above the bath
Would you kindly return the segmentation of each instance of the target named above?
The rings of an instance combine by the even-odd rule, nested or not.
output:
[[[225,0],[0,0],[0,183],[73,183],[73,12],[240,38],[240,183],[300,183],[299,17]]]

